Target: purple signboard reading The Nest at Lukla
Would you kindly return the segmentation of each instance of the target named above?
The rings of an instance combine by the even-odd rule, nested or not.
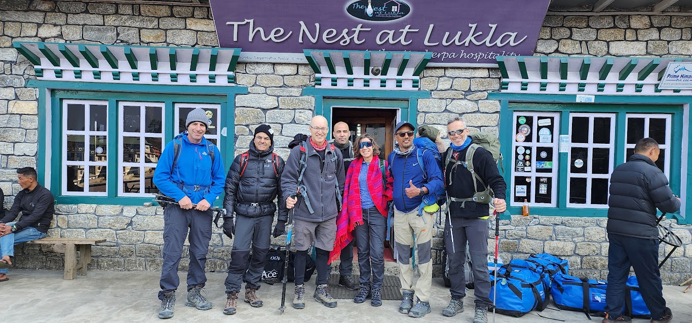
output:
[[[533,55],[549,0],[210,0],[219,45],[244,62],[306,62],[303,49],[411,50],[431,66]]]

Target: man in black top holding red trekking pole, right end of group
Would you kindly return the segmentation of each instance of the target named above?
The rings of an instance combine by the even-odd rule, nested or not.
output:
[[[487,271],[489,203],[493,201],[498,213],[507,209],[504,202],[507,184],[498,172],[493,155],[483,147],[471,143],[468,128],[462,118],[457,117],[448,122],[447,134],[452,142],[442,155],[449,210],[448,222],[444,225],[444,239],[452,299],[442,315],[454,316],[464,311],[464,263],[468,241],[475,286],[473,323],[486,323],[487,311],[493,306],[489,298],[490,277]],[[470,169],[473,169],[473,174]],[[487,190],[487,187],[491,190]]]

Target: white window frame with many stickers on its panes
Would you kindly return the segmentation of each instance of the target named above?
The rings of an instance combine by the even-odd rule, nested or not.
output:
[[[529,133],[529,136],[531,136],[531,142],[517,142],[516,141],[516,133],[518,133],[518,128],[517,128],[517,118],[520,116],[526,117],[526,118],[534,118],[533,123],[534,126],[531,129],[531,133]],[[553,118],[553,142],[552,143],[547,143],[547,142],[538,142],[538,119],[539,118]],[[513,116],[512,116],[512,124],[513,124],[513,136],[512,138],[512,156],[511,156],[511,186],[510,186],[510,195],[511,195],[511,203],[509,204],[510,206],[522,206],[524,205],[524,202],[516,202],[514,201],[514,198],[516,197],[515,194],[515,177],[530,177],[531,178],[531,201],[529,201],[530,206],[536,206],[536,207],[557,207],[558,201],[557,201],[557,192],[559,190],[558,187],[558,168],[559,168],[559,154],[558,154],[558,147],[559,147],[559,139],[560,139],[560,113],[558,112],[529,112],[529,111],[514,111]],[[517,160],[517,147],[530,147],[531,148],[531,172],[516,172],[516,160]],[[541,173],[541,172],[536,172],[536,147],[552,147],[553,149],[553,168],[552,172],[549,173]],[[551,187],[551,197],[550,200],[552,203],[535,203],[534,199],[536,198],[536,187],[540,183],[538,183],[538,180],[536,178],[539,177],[548,177],[552,178],[552,187]]]

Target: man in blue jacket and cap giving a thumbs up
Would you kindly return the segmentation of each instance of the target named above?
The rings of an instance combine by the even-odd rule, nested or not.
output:
[[[415,127],[409,122],[402,121],[394,128],[394,138],[397,143],[394,151],[388,157],[390,171],[394,178],[394,241],[397,246],[397,264],[401,275],[401,294],[403,300],[399,312],[411,317],[424,317],[430,313],[430,298],[432,288],[432,260],[430,259],[430,239],[432,239],[432,213],[418,210],[426,194],[437,192],[444,187],[442,172],[437,165],[435,156],[430,151],[421,151],[423,167],[417,158],[418,151],[413,145]],[[425,172],[423,171],[425,169]],[[425,174],[424,174],[425,173]],[[413,235],[415,234],[415,241]],[[412,248],[418,250],[418,268],[421,277],[413,282],[411,266]],[[417,297],[415,305],[413,296]]]

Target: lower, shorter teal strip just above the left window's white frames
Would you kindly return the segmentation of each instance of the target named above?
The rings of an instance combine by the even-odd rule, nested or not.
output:
[[[126,101],[173,101],[190,103],[221,103],[226,102],[226,96],[221,95],[185,95],[161,93],[130,93],[130,92],[98,92],[98,91],[69,91],[53,90],[53,97],[61,99],[83,100],[126,100]]]

